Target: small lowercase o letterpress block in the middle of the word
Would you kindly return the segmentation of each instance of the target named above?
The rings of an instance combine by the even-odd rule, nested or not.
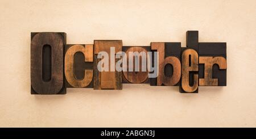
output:
[[[123,71],[122,74],[122,82],[123,83],[150,83],[150,79],[148,78],[148,70],[147,70],[147,52],[150,52],[150,47],[122,47],[123,52],[126,53],[127,62],[126,71]],[[138,56],[135,54],[138,52]],[[133,53],[133,56],[129,56],[129,53]],[[143,59],[143,58],[144,59]],[[131,59],[130,59],[131,58]],[[139,66],[135,66],[135,61],[139,62]],[[133,63],[133,71],[129,71],[129,61]],[[139,71],[135,71],[135,68],[139,68]],[[142,71],[145,68],[146,71]]]

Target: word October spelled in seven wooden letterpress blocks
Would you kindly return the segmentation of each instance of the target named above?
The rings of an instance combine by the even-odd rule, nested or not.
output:
[[[181,43],[151,42],[122,46],[122,40],[67,44],[64,32],[31,32],[31,94],[66,94],[67,87],[121,90],[122,83],[179,86],[226,86],[226,43],[199,43],[187,31]]]

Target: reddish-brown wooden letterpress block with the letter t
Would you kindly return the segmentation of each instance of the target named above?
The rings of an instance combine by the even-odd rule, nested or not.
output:
[[[110,47],[115,49],[113,54],[110,54]],[[108,57],[105,57],[105,55],[100,53],[102,51],[107,53]],[[115,53],[121,51],[122,40],[94,40],[93,89],[122,89],[122,71],[115,71],[115,63],[119,60],[115,58]],[[97,58],[98,56],[100,56],[101,59]],[[97,68],[98,64],[101,64],[103,58],[108,58],[109,61],[108,64],[104,63],[104,68],[105,66],[108,66],[107,71],[99,71]]]

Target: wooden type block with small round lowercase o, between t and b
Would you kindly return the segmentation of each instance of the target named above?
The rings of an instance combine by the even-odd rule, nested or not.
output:
[[[147,58],[147,52],[150,51],[150,47],[123,47],[123,52],[126,53],[127,56],[127,71],[123,71],[123,83],[149,83],[148,79],[148,70],[147,70],[147,59],[144,66],[146,66],[146,71],[142,71],[142,57],[133,56],[133,71],[129,71],[129,52],[144,52]],[[142,53],[141,53],[142,54]],[[139,61],[139,71],[135,71],[135,58],[138,58]]]

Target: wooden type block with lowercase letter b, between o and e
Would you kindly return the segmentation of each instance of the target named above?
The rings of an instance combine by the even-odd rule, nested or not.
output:
[[[151,49],[153,52],[159,52],[159,73],[157,78],[151,78],[150,85],[179,86],[181,75],[181,43],[151,43]],[[152,64],[154,64],[154,58],[152,58]]]

